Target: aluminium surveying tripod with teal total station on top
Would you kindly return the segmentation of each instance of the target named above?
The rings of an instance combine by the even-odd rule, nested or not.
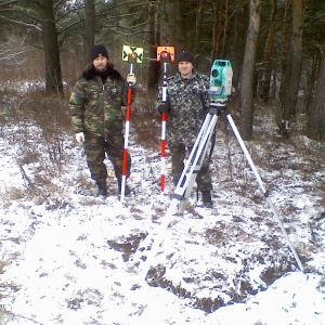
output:
[[[147,259],[145,261],[145,265],[143,266],[143,274],[142,276],[145,277],[148,271],[148,268],[154,263],[155,256],[158,253],[159,247],[162,244],[164,239],[166,238],[166,232],[170,225],[171,218],[176,212],[183,213],[186,204],[188,200],[188,197],[191,195],[191,192],[193,190],[196,177],[198,172],[200,171],[200,168],[203,166],[204,159],[206,157],[211,136],[213,132],[216,132],[217,121],[218,117],[221,116],[222,113],[225,113],[226,119],[243,150],[243,153],[245,154],[249,166],[255,173],[255,177],[264,194],[264,197],[266,202],[269,203],[271,210],[275,218],[277,219],[278,225],[283,232],[283,235],[286,239],[286,243],[291,250],[296,262],[300,269],[300,271],[303,272],[302,263],[295,250],[295,247],[292,246],[284,225],[275,210],[275,207],[269,197],[269,192],[265,190],[263,182],[251,160],[251,157],[246,148],[246,145],[234,123],[233,118],[231,117],[229,110],[227,110],[227,96],[232,93],[232,69],[230,62],[226,61],[218,61],[216,60],[212,68],[211,68],[211,75],[210,75],[210,89],[209,89],[209,112],[206,115],[202,128],[198,132],[198,135],[196,138],[196,141],[193,145],[193,148],[190,153],[190,156],[186,160],[186,164],[184,166],[183,172],[178,181],[178,184],[176,186],[172,199],[170,202],[170,205],[167,209],[166,214],[162,218],[161,224],[160,224],[160,231],[155,236],[155,242],[152,246],[152,249],[150,251],[150,255],[147,256]],[[180,205],[179,205],[180,204]]]

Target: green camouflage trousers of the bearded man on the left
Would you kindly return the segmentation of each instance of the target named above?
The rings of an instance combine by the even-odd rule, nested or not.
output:
[[[107,168],[104,164],[105,154],[113,164],[116,178],[122,174],[123,142],[122,134],[109,135],[106,140],[102,136],[86,134],[84,154],[91,178],[96,183],[104,183],[107,179]],[[127,178],[130,176],[131,157],[128,154]]]

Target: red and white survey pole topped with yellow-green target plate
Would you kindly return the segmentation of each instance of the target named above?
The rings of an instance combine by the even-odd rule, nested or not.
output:
[[[130,134],[130,120],[131,120],[131,105],[132,105],[132,91],[135,84],[135,63],[142,63],[143,61],[143,49],[135,47],[123,46],[122,49],[122,61],[130,63],[130,73],[128,77],[128,103],[126,112],[126,131],[125,131],[125,147],[123,147],[123,164],[122,164],[122,176],[121,176],[121,188],[120,188],[120,202],[125,200],[126,194],[126,182],[127,182],[127,170],[128,170],[128,154],[129,154],[129,134]],[[133,77],[133,78],[132,78]],[[132,81],[133,79],[133,81]]]

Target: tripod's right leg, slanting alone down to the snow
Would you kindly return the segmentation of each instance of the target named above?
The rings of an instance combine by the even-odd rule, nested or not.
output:
[[[257,171],[257,169],[256,169],[256,167],[255,167],[255,165],[253,165],[253,162],[251,160],[251,157],[250,157],[250,155],[249,155],[249,153],[248,153],[248,151],[246,148],[246,145],[245,145],[245,143],[244,143],[244,141],[243,141],[243,139],[242,139],[242,136],[240,136],[240,134],[239,134],[239,132],[238,132],[235,123],[234,123],[234,120],[231,117],[230,113],[227,113],[227,112],[226,112],[226,118],[227,118],[227,121],[231,125],[231,127],[232,127],[232,129],[233,129],[233,131],[234,131],[234,133],[236,135],[236,139],[237,139],[237,141],[238,141],[238,143],[239,143],[239,145],[240,145],[240,147],[242,147],[242,150],[243,150],[243,152],[244,152],[244,154],[245,154],[245,156],[246,156],[246,158],[247,158],[247,160],[249,162],[249,166],[250,166],[252,172],[255,173],[255,177],[256,177],[256,179],[257,179],[257,181],[258,181],[258,183],[259,183],[259,185],[260,185],[260,187],[261,187],[261,190],[262,190],[262,192],[264,194],[264,197],[266,198],[266,202],[269,203],[269,205],[270,205],[270,207],[271,207],[271,209],[273,211],[273,214],[277,219],[278,225],[280,225],[280,227],[281,227],[281,230],[282,230],[282,232],[284,234],[284,237],[285,237],[285,239],[287,242],[287,245],[290,248],[291,252],[294,253],[294,257],[295,257],[295,259],[296,259],[296,261],[297,261],[297,263],[299,265],[299,269],[303,272],[302,263],[301,263],[301,261],[300,261],[300,259],[299,259],[299,257],[298,257],[298,255],[297,255],[297,252],[295,250],[295,247],[292,246],[292,244],[291,244],[291,242],[289,239],[289,236],[286,233],[286,231],[284,229],[284,225],[283,225],[283,223],[282,223],[282,221],[281,221],[281,219],[280,219],[280,217],[278,217],[278,214],[277,214],[277,212],[276,212],[276,210],[274,208],[274,205],[273,205],[271,198],[269,197],[269,193],[265,190],[265,187],[263,185],[263,182],[262,182],[262,180],[261,180],[261,178],[260,178],[260,176],[259,176],[259,173],[258,173],[258,171]]]

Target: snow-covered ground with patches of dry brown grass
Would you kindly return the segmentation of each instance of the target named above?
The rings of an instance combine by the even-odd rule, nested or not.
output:
[[[170,172],[162,196],[159,152],[135,143],[134,131],[133,195],[121,204],[109,162],[110,195],[95,196],[83,151],[70,134],[62,139],[60,172],[49,177],[53,151],[43,146],[39,128],[3,122],[0,324],[324,325],[324,144],[298,134],[278,140],[272,115],[262,110],[257,140],[246,143],[301,272],[220,119],[214,206],[204,208],[193,193],[182,216],[167,213]],[[23,159],[26,139],[17,141],[26,133],[34,161]]]

